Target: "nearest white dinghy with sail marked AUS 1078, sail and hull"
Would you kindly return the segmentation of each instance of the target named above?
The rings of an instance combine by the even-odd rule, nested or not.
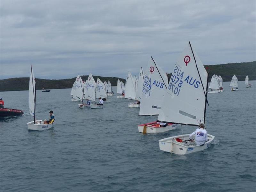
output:
[[[160,122],[198,126],[205,123],[208,73],[189,42],[174,66],[171,80],[158,116]],[[159,140],[160,150],[185,155],[208,148],[214,136],[208,134],[204,145],[193,145],[189,134]]]

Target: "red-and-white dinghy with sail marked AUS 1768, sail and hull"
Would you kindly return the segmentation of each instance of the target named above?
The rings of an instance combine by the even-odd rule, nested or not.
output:
[[[155,63],[151,57],[148,66],[145,69],[143,88],[141,90],[141,103],[139,116],[158,115],[164,104],[164,94],[167,89],[167,75]],[[160,124],[158,122],[150,122],[138,125],[140,133],[159,133],[176,129],[176,124],[167,123]]]

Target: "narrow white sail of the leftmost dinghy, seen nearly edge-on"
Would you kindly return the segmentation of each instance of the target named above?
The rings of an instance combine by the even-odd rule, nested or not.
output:
[[[29,113],[31,116],[34,116],[35,111],[35,89],[36,81],[35,76],[33,73],[32,65],[30,65],[30,78],[29,78],[29,93],[28,93],[28,106],[29,106]]]

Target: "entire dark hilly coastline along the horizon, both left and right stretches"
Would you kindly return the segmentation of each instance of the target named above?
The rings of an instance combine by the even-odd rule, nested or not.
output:
[[[221,65],[204,65],[207,69],[210,69],[209,81],[213,74],[221,75],[223,81],[231,81],[232,76],[235,74],[238,78],[238,81],[244,81],[246,75],[249,76],[249,80],[256,79],[256,61],[246,62],[246,63],[228,63]],[[127,71],[128,72],[128,71]],[[168,80],[171,74],[168,74]],[[88,75],[81,76],[82,79],[88,79]],[[101,77],[93,76],[96,81],[97,78],[100,78],[102,82],[108,80],[111,82],[112,86],[117,85],[117,77]],[[59,80],[50,80],[50,79],[37,79],[36,78],[36,89],[65,89],[71,88],[75,81],[76,77],[72,79],[59,79]],[[123,83],[125,79],[119,78]],[[11,78],[0,80],[0,91],[20,91],[28,90],[29,78]]]

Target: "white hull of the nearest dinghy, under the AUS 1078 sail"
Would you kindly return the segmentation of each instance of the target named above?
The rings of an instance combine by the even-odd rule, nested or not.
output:
[[[208,141],[205,142],[203,146],[200,146],[200,145],[193,145],[193,143],[190,141],[183,141],[182,143],[180,143],[176,141],[175,138],[189,140],[189,134],[178,135],[178,136],[168,137],[168,138],[159,140],[160,150],[166,151],[169,153],[178,154],[178,155],[186,155],[189,153],[207,149],[211,145],[212,141],[214,140],[214,136],[208,134]]]

